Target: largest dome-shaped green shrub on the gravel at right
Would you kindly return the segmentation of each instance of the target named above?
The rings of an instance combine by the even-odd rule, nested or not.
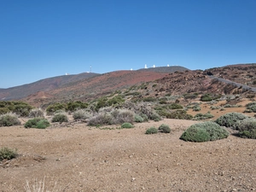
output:
[[[230,134],[220,125],[207,121],[189,126],[189,128],[183,132],[180,139],[186,142],[208,142],[223,139]]]

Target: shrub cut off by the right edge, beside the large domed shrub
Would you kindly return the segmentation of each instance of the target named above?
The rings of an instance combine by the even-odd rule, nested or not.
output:
[[[240,137],[256,139],[256,119],[243,119],[238,126],[238,130]]]

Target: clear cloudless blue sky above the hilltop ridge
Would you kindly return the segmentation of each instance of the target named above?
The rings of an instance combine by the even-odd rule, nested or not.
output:
[[[256,0],[0,0],[0,88],[65,73],[256,62]]]

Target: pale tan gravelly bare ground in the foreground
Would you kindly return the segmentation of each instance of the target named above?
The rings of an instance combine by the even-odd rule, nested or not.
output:
[[[170,134],[144,134],[163,123]],[[2,162],[0,191],[25,191],[26,180],[44,177],[45,186],[58,191],[256,190],[256,140],[233,135],[207,143],[179,140],[194,123],[164,119],[121,130],[85,124],[0,127],[0,147],[18,148],[20,154]]]

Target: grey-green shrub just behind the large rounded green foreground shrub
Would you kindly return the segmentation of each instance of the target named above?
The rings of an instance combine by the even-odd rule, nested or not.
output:
[[[232,113],[225,113],[224,115],[216,119],[215,122],[221,126],[237,129],[237,122],[247,118],[248,118],[247,115],[243,113],[232,112]]]

